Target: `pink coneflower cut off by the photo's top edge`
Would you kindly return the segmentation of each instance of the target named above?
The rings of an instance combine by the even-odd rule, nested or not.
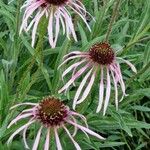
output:
[[[88,12],[80,0],[26,0],[22,8],[25,8],[25,12],[20,33],[22,30],[28,32],[32,28],[32,46],[35,43],[38,24],[43,16],[49,20],[47,30],[49,43],[52,48],[56,46],[61,26],[63,34],[66,33],[68,39],[70,39],[70,34],[72,34],[74,40],[77,41],[69,10],[78,14],[90,30],[86,21],[86,13]],[[31,21],[29,21],[29,18],[31,18]]]

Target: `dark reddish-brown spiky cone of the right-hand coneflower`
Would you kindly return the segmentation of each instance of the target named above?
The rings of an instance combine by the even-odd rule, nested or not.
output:
[[[97,43],[93,45],[90,50],[90,58],[100,64],[100,65],[109,65],[114,61],[115,54],[111,46],[106,43]]]

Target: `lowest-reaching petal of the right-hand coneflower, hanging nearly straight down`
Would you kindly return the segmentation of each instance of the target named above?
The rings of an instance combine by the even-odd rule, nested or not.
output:
[[[106,85],[106,97],[104,101],[104,111],[103,111],[103,116],[106,113],[108,103],[110,100],[110,91],[111,91],[111,83],[110,83],[110,75],[109,75],[109,69],[107,68],[107,85]]]

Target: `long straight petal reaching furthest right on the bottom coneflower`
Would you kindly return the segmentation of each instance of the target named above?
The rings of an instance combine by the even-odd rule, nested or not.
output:
[[[72,125],[74,125],[74,126],[76,126],[77,128],[79,128],[79,129],[81,129],[81,130],[84,130],[84,131],[87,132],[88,134],[97,137],[98,139],[101,139],[101,140],[104,140],[104,139],[105,139],[105,138],[103,138],[102,136],[100,136],[99,134],[97,134],[97,133],[93,132],[92,130],[90,130],[89,128],[83,127],[83,126],[81,126],[81,125],[79,125],[79,124],[75,124],[74,122],[72,122],[72,121],[70,121],[70,120],[68,120],[67,122],[70,123],[70,124],[72,124]]]

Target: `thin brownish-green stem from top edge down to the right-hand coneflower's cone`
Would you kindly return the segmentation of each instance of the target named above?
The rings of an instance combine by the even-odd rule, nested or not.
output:
[[[113,13],[112,13],[112,17],[111,17],[111,20],[110,20],[110,23],[109,23],[109,26],[108,26],[108,29],[107,29],[107,33],[106,33],[106,38],[105,38],[105,41],[108,42],[108,38],[109,38],[109,35],[112,31],[112,26],[113,26],[113,23],[117,17],[117,14],[118,14],[118,9],[119,9],[119,5],[120,5],[120,0],[116,0],[116,3],[115,3],[115,7],[113,9]]]

